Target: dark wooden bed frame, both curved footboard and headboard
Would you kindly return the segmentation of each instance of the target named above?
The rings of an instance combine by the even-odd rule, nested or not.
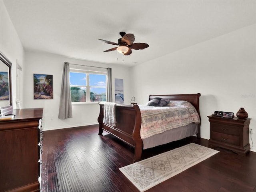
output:
[[[176,95],[150,95],[149,100],[160,97],[165,100],[184,100],[190,102],[197,110],[199,116],[199,97],[197,94],[176,94]],[[116,104],[116,126],[103,123],[104,102],[100,102],[99,135],[103,130],[113,134],[120,140],[134,148],[134,161],[138,161],[142,155],[143,141],[140,137],[141,114],[138,105]],[[198,125],[197,137],[200,138],[200,124]]]

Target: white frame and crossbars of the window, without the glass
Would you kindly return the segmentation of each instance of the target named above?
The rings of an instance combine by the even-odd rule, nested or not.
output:
[[[72,104],[98,104],[98,101],[90,101],[90,88],[91,87],[105,88],[105,90],[106,90],[106,84],[105,84],[105,86],[90,86],[89,85],[89,76],[90,76],[90,74],[99,74],[99,75],[107,76],[106,69],[105,69],[105,71],[104,70],[100,71],[100,70],[87,70],[87,69],[72,67],[72,68],[70,68],[69,72],[86,74],[86,86],[81,86],[81,85],[78,85],[78,86],[75,85],[74,86],[74,85],[70,84],[70,88],[71,87],[86,87],[86,102],[72,102]]]

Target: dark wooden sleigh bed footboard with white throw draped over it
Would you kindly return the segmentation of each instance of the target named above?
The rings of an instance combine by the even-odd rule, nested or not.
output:
[[[134,161],[142,154],[142,139],[140,138],[141,115],[138,105],[116,104],[116,126],[103,123],[104,103],[100,102],[99,135],[103,130],[113,134],[134,148]]]

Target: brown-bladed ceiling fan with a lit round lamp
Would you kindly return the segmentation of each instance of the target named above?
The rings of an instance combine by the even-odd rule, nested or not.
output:
[[[122,38],[118,39],[118,43],[103,40],[103,39],[98,39],[107,44],[118,45],[118,47],[108,49],[104,52],[118,50],[118,52],[124,55],[130,55],[132,54],[132,49],[139,50],[139,49],[145,49],[149,47],[149,45],[146,43],[133,43],[135,40],[134,34],[131,34],[131,33],[126,34],[125,32],[120,32],[119,34],[122,36]]]

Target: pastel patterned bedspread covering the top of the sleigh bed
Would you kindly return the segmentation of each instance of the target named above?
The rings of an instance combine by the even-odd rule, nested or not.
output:
[[[140,107],[142,117],[140,128],[142,139],[166,130],[186,126],[192,122],[196,124],[200,123],[199,115],[192,105],[167,107],[138,106]]]

